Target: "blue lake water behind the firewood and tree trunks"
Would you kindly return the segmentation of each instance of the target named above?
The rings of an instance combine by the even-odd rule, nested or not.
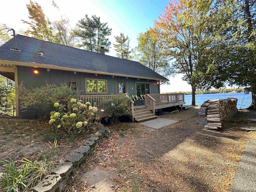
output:
[[[238,109],[245,109],[250,106],[252,103],[252,94],[242,93],[216,93],[216,94],[202,94],[196,95],[196,105],[201,106],[202,103],[206,100],[215,100],[215,99],[227,99],[227,98],[237,98],[237,105]],[[243,100],[244,98],[244,100]],[[185,95],[185,102],[186,105],[191,105],[192,103],[192,95]],[[242,104],[242,106],[241,106]]]

